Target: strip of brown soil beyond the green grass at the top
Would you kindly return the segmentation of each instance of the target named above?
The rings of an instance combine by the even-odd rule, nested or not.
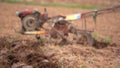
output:
[[[86,4],[93,6],[110,6],[120,4],[120,0],[36,0],[38,2],[49,2],[49,3],[69,3],[69,4]]]

